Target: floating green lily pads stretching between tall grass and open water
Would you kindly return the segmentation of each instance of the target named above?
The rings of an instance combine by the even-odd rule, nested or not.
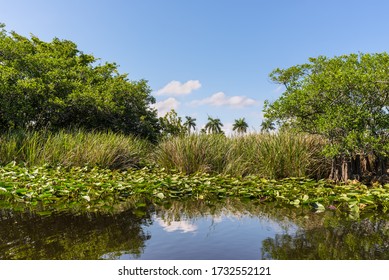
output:
[[[45,205],[52,209],[112,208],[122,202],[155,203],[173,200],[213,201],[229,197],[281,205],[306,206],[315,211],[329,207],[350,212],[389,209],[389,184],[367,187],[361,183],[332,185],[325,180],[291,177],[268,180],[258,176],[167,172],[164,169],[109,170],[88,167],[50,168],[9,164],[0,168],[3,203]],[[332,210],[334,211],[334,210]]]

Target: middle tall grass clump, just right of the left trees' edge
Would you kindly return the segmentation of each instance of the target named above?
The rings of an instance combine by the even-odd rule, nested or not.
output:
[[[168,170],[185,174],[222,173],[229,139],[221,134],[168,137],[159,143],[155,161]]]

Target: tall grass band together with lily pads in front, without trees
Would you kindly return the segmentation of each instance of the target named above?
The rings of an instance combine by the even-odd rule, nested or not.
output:
[[[325,179],[331,166],[322,145],[291,132],[189,134],[158,144],[110,132],[10,132],[0,136],[0,197],[3,207],[43,214],[231,197],[353,217],[386,212],[389,184]]]

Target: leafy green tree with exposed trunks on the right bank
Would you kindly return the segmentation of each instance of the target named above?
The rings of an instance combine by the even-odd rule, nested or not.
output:
[[[347,181],[352,175],[360,177],[364,169],[377,175],[386,172],[388,54],[320,56],[275,69],[270,77],[283,84],[285,92],[265,103],[265,122],[322,135],[327,141],[324,153],[332,158],[331,179]],[[369,163],[372,156],[374,167]]]

